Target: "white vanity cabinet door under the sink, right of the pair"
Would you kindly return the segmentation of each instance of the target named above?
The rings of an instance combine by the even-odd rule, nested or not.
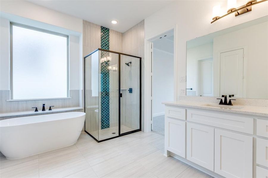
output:
[[[253,177],[253,137],[215,129],[214,172]]]

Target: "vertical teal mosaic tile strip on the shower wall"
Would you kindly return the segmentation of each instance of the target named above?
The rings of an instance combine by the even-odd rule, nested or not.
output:
[[[101,26],[101,49],[109,50],[109,28]],[[109,56],[101,51],[101,58]],[[110,127],[109,62],[101,63],[101,129]]]

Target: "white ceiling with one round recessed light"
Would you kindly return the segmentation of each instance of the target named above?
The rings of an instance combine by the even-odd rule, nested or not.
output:
[[[47,7],[107,28],[125,32],[143,19],[147,18],[172,0],[28,0],[34,4]],[[112,24],[117,20],[117,24]]]

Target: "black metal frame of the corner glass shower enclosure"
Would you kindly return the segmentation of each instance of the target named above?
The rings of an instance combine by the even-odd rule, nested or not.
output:
[[[119,105],[119,109],[118,109],[118,136],[114,136],[114,137],[111,137],[111,138],[108,138],[108,139],[103,139],[103,140],[97,140],[94,136],[92,136],[90,133],[88,133],[86,131],[86,121],[85,121],[85,129],[84,131],[90,135],[96,142],[104,142],[106,140],[110,140],[110,139],[114,139],[114,138],[117,138],[117,137],[120,137],[120,136],[124,136],[124,135],[128,135],[128,134],[132,134],[132,133],[135,133],[135,132],[138,132],[138,131],[141,131],[141,127],[142,127],[142,112],[141,112],[141,100],[142,100],[142,80],[141,80],[141,64],[142,64],[142,58],[141,57],[138,57],[138,56],[134,56],[134,55],[129,55],[129,54],[124,54],[124,53],[119,53],[119,52],[115,52],[115,51],[110,51],[110,50],[104,50],[104,49],[101,49],[101,48],[98,48],[96,50],[94,50],[92,53],[86,55],[84,57],[84,112],[86,112],[86,90],[85,90],[85,78],[86,78],[86,75],[85,75],[85,59],[92,55],[93,53],[95,53],[96,51],[105,51],[105,52],[109,52],[109,53],[115,53],[115,54],[118,54],[118,105]],[[130,56],[130,57],[134,57],[134,58],[139,58],[140,59],[140,128],[139,129],[136,129],[136,130],[133,130],[133,131],[129,131],[129,132],[125,132],[123,134],[120,133],[120,127],[121,127],[121,97],[120,97],[120,93],[121,93],[121,81],[120,81],[120,77],[121,77],[121,61],[120,61],[120,57],[121,55],[126,55],[126,56]]]

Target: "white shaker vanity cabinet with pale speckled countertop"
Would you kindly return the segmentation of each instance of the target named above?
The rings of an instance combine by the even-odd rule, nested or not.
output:
[[[166,156],[213,177],[268,177],[268,110],[250,115],[192,103],[164,103]]]

